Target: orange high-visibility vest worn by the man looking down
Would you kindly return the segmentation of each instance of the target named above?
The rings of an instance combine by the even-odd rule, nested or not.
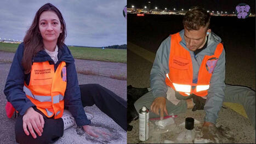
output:
[[[191,94],[206,96],[213,70],[223,51],[223,45],[221,43],[217,45],[214,55],[204,56],[198,71],[197,84],[195,84],[192,83],[193,66],[189,51],[180,45],[179,33],[170,36],[169,73],[166,74],[166,84],[183,96]],[[195,86],[195,89],[192,89],[192,86]]]

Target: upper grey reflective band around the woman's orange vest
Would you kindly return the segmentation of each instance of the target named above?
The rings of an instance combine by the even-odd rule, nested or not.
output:
[[[23,91],[26,93],[26,95],[33,97],[33,99],[38,100],[40,102],[52,102],[52,96],[41,96],[41,95],[33,95],[29,88],[27,88],[25,85],[23,87]],[[61,94],[53,96],[53,103],[58,103],[64,99],[64,96]]]

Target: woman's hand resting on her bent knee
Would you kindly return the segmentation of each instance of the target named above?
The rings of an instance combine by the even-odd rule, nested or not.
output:
[[[44,120],[42,114],[36,112],[32,107],[28,108],[23,118],[23,130],[26,135],[31,133],[32,137],[36,139],[36,133],[41,136],[43,133]],[[29,131],[27,130],[29,128]]]

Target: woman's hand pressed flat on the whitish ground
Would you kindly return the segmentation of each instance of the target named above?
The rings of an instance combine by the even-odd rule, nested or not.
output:
[[[83,125],[83,130],[90,136],[97,137],[104,141],[110,141],[112,137],[109,131],[91,125]]]

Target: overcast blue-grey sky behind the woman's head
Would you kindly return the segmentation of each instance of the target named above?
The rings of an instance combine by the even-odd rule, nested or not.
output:
[[[23,41],[36,11],[45,3],[57,7],[67,28],[67,45],[103,47],[127,44],[126,0],[1,0],[0,38]]]

